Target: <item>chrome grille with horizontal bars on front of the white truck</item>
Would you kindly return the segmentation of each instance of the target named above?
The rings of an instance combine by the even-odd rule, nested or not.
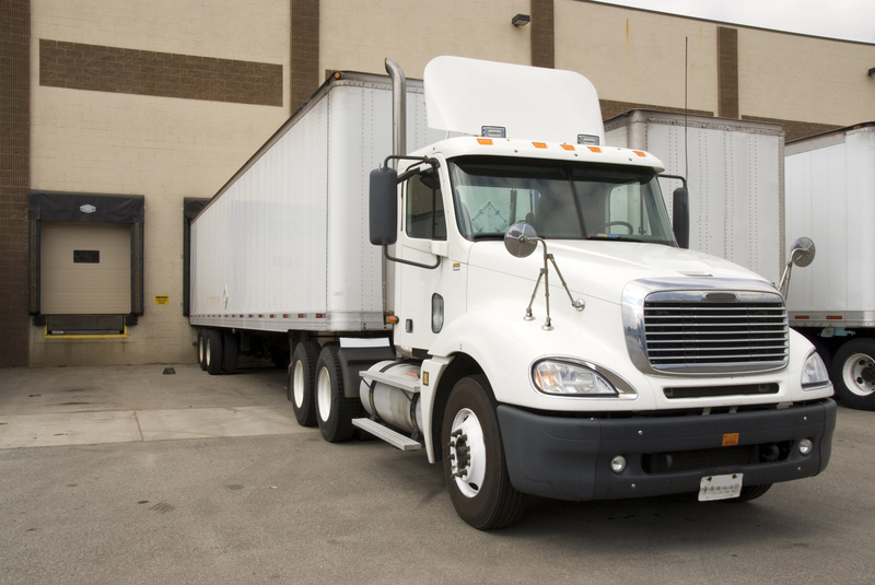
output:
[[[660,296],[649,296],[643,307],[646,354],[654,370],[761,371],[786,363],[788,315],[780,297],[712,303],[701,294]]]

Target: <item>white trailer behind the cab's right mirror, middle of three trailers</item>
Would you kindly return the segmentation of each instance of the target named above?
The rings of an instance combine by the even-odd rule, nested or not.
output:
[[[652,152],[665,174],[686,177],[690,249],[780,280],[786,257],[780,124],[633,109],[606,120],[605,133],[609,144]],[[661,183],[664,192],[678,186]]]

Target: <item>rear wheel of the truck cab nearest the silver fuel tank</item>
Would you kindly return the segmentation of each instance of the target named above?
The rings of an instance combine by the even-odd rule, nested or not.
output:
[[[316,361],[316,384],[313,397],[316,402],[316,423],[322,437],[328,443],[342,443],[352,438],[355,428],[352,418],[359,412],[358,398],[343,396],[343,374],[337,346],[326,346]]]

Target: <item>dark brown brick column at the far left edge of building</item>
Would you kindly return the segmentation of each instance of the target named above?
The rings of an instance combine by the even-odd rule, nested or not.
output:
[[[0,2],[0,367],[28,365],[31,0]]]

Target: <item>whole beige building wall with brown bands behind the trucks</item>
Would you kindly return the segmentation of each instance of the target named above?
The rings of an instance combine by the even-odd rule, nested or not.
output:
[[[696,113],[718,115],[731,103],[739,117],[786,121],[789,137],[791,128],[813,133],[875,120],[875,78],[866,75],[875,45],[587,0],[27,5],[28,187],[141,195],[145,202],[145,303],[138,325],[124,339],[47,339],[43,327],[31,325],[33,365],[195,360],[195,334],[180,306],[183,198],[215,194],[289,117],[295,87],[317,86],[326,71],[384,73],[389,57],[409,78],[421,78],[439,55],[529,65],[537,54],[540,65],[590,78],[614,115],[635,106],[682,108],[688,46],[687,102]],[[517,13],[532,14],[532,24],[513,26]],[[301,33],[294,39],[292,30]],[[107,65],[102,51],[115,61]],[[49,54],[54,66],[44,59]],[[154,79],[130,74],[150,60],[161,66]],[[719,62],[730,74],[719,74]],[[114,68],[127,72],[116,75]],[[265,80],[267,90],[258,85]],[[21,190],[19,199],[26,197],[26,187]],[[156,305],[155,296],[168,296],[170,304]]]

